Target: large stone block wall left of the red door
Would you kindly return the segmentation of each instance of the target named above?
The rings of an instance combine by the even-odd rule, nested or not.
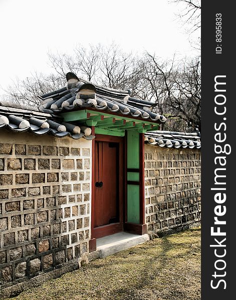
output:
[[[1,130],[0,285],[88,252],[91,141]]]

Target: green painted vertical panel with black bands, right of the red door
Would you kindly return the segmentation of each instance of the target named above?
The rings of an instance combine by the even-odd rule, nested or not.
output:
[[[139,224],[139,132],[136,129],[127,130],[127,181],[127,221]]]

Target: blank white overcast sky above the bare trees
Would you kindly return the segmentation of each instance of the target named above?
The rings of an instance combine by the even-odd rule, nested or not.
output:
[[[48,51],[72,53],[78,43],[115,41],[124,51],[163,58],[194,55],[179,10],[168,0],[0,0],[0,85],[50,72]]]

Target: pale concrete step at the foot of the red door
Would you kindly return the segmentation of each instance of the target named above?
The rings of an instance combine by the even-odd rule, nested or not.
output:
[[[97,251],[100,258],[112,255],[149,240],[148,234],[138,235],[118,232],[97,239]]]

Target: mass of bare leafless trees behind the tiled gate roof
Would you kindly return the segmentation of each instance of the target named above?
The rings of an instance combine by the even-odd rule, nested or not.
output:
[[[155,102],[154,111],[168,117],[171,130],[200,129],[200,59],[162,60],[155,54],[134,56],[112,43],[108,47],[77,46],[73,55],[49,53],[54,73],[37,72],[16,79],[8,88],[7,99],[39,106],[39,95],[66,85],[66,73],[109,87],[130,89],[131,95]]]

